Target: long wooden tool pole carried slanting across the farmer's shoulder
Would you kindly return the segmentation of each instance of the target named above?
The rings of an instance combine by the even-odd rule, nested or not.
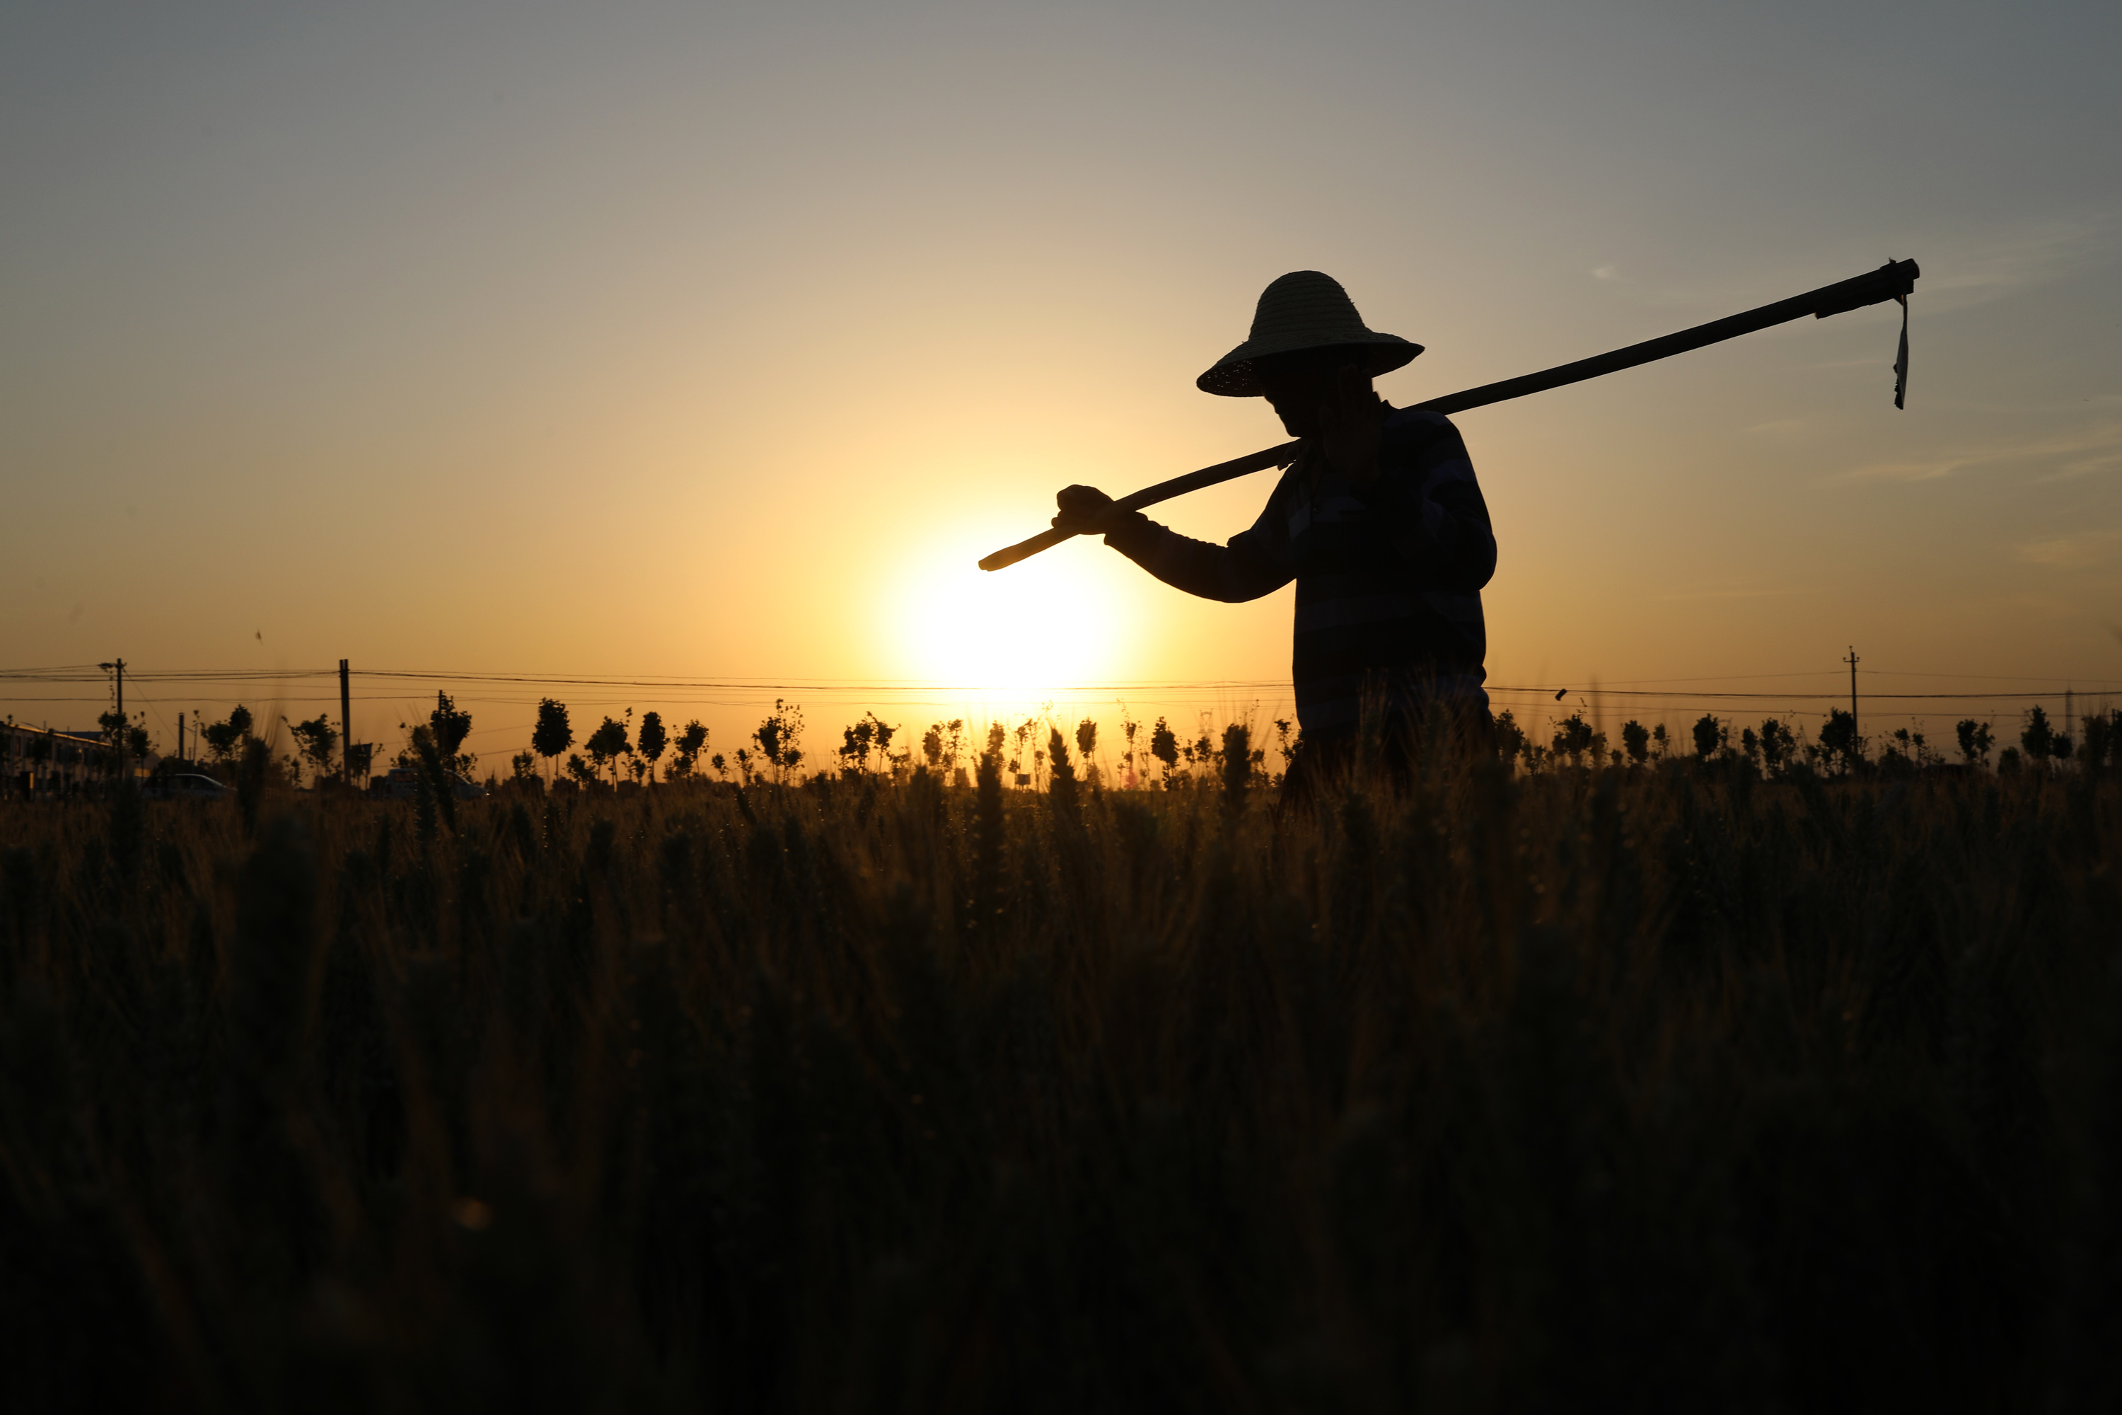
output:
[[[1538,373],[1521,373],[1519,378],[1507,378],[1500,384],[1481,384],[1479,388],[1466,388],[1464,392],[1451,392],[1441,399],[1430,399],[1428,403],[1415,403],[1428,412],[1439,414],[1462,414],[1468,407],[1488,407],[1490,403],[1504,403],[1509,399],[1521,399],[1528,392],[1547,392],[1549,388],[1562,388],[1564,384],[1581,384],[1587,378],[1598,378],[1602,373],[1619,373],[1621,369],[1634,369],[1642,363],[1655,363],[1659,359],[1670,359],[1672,354],[1685,354],[1689,350],[1702,348],[1706,344],[1721,344],[1725,339],[1736,339],[1742,333],[1755,333],[1759,329],[1770,329],[1772,325],[1787,325],[1791,320],[1812,316],[1827,318],[1829,314],[1846,314],[1848,310],[1863,310],[1865,305],[1886,303],[1889,299],[1908,299],[1916,289],[1916,278],[1923,272],[1914,261],[1886,261],[1878,269],[1867,269],[1850,280],[1838,280],[1836,284],[1823,284],[1816,291],[1806,291],[1804,295],[1793,295],[1791,299],[1778,299],[1772,305],[1761,305],[1759,310],[1746,310],[1744,314],[1732,314],[1721,320],[1710,320],[1708,325],[1695,325],[1693,329],[1683,329],[1679,333],[1668,333],[1659,339],[1645,339],[1642,344],[1630,344],[1628,348],[1617,348],[1608,354],[1594,354],[1592,359],[1579,359],[1577,363],[1562,363],[1553,369],[1541,369]],[[1906,335],[1903,335],[1906,337]],[[1908,354],[1901,352],[1897,373],[1906,380]],[[1899,407],[1899,397],[1895,397],[1895,407]],[[1140,511],[1142,507],[1152,507],[1159,501],[1169,501],[1171,496],[1184,496],[1186,492],[1197,492],[1203,486],[1216,486],[1218,482],[1231,482],[1254,471],[1267,471],[1269,467],[1288,467],[1297,458],[1297,443],[1286,441],[1280,448],[1265,448],[1252,452],[1250,456],[1237,456],[1229,462],[1216,462],[1214,467],[1203,467],[1201,471],[1188,471],[1184,477],[1171,477],[1169,482],[1159,482],[1156,486],[1146,486],[1133,496],[1120,496],[1114,501],[1114,511]],[[1019,541],[1006,549],[997,549],[993,556],[980,560],[982,571],[1002,571],[1019,560],[1029,560],[1042,549],[1053,549],[1061,541],[1084,535],[1082,530],[1042,530],[1029,541]]]

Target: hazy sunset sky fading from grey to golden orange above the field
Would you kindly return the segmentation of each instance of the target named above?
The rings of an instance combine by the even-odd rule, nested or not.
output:
[[[2122,689],[2118,53],[2114,4],[4,6],[0,668],[1273,717],[1288,590],[974,569],[1280,441],[1193,386],[1271,278],[1426,344],[1415,403],[1914,257],[1906,412],[1884,305],[1462,414],[1490,679]],[[734,747],[760,692],[620,698]]]

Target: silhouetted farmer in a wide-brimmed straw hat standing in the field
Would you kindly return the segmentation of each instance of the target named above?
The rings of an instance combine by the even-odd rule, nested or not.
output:
[[[1112,499],[1091,486],[1057,499],[1055,526],[1103,526],[1106,545],[1188,594],[1237,602],[1297,581],[1303,749],[1286,791],[1299,798],[1350,766],[1367,713],[1388,764],[1420,732],[1494,751],[1481,687],[1481,586],[1496,573],[1488,505],[1447,418],[1371,390],[1420,352],[1367,329],[1330,276],[1282,276],[1260,295],[1252,337],[1195,380],[1203,392],[1267,397],[1303,439],[1250,530],[1210,545],[1140,511],[1106,524]]]

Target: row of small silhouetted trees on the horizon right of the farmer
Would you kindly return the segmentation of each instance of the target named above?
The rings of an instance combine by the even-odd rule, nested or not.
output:
[[[1666,732],[1666,723],[1645,728],[1640,721],[1625,721],[1621,723],[1621,747],[1613,749],[1606,734],[1585,721],[1581,711],[1551,726],[1553,736],[1543,747],[1532,740],[1513,713],[1504,711],[1496,717],[1498,751],[1504,759],[1519,762],[1534,772],[1564,764],[1649,766],[1693,757],[1698,762],[1749,762],[1768,776],[1785,776],[1793,768],[1833,776],[1867,772],[1897,776],[1942,766],[1984,770],[1990,766],[1990,751],[1997,749],[1993,723],[1963,717],[1952,730],[1959,762],[1950,762],[1914,728],[1895,728],[1874,755],[1872,738],[1861,736],[1857,717],[1842,709],[1827,713],[1819,736],[1810,740],[1804,730],[1791,728],[1780,717],[1768,717],[1759,728],[1751,728],[1710,713],[1695,719],[1687,745]],[[1734,726],[1738,726],[1738,740],[1732,736]],[[2122,766],[2122,709],[2086,713],[2077,728],[2077,738],[2071,738],[2048,717],[2048,709],[2035,704],[2020,719],[2018,747],[1999,751],[1995,770],[2010,776],[2029,768],[2043,770],[2071,762],[2084,768]]]

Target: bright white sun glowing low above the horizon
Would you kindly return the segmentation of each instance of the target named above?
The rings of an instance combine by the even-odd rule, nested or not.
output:
[[[1006,571],[974,560],[993,532],[936,541],[885,605],[902,675],[980,696],[1040,700],[1133,668],[1110,556],[1061,545]],[[1133,566],[1127,566],[1133,569]]]

